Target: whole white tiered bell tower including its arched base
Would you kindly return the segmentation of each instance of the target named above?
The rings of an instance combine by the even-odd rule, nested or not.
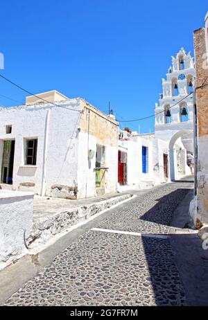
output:
[[[172,57],[166,79],[162,79],[159,104],[155,104],[155,138],[168,141],[171,180],[177,178],[177,148],[193,153],[192,93],[195,74],[191,53],[181,48],[176,57]]]

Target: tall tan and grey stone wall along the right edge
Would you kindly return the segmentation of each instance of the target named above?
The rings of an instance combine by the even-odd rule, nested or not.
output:
[[[194,32],[196,87],[200,87],[203,83],[208,84],[208,80],[206,80],[208,77],[208,19],[206,19],[205,24],[206,28],[200,28]],[[196,177],[196,211],[194,210],[193,220],[195,224],[200,226],[201,224],[208,224],[208,86],[203,89],[197,89],[196,106],[198,121],[198,172]]]

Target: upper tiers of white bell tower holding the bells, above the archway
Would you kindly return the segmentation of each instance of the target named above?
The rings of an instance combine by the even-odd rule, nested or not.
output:
[[[193,95],[191,92],[193,92],[194,78],[193,57],[190,52],[187,54],[184,48],[181,48],[176,57],[172,57],[172,65],[166,73],[166,79],[162,79],[162,94],[159,95],[159,105],[155,105],[156,135],[160,136],[166,130],[177,130],[177,127],[178,129],[187,128],[191,125],[193,129]],[[188,96],[189,94],[191,95]]]

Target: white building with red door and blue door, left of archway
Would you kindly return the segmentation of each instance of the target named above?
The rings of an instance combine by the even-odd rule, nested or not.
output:
[[[155,133],[130,134],[120,130],[119,190],[125,190],[121,186],[146,188],[169,181],[165,155],[168,157],[168,142],[155,138]]]

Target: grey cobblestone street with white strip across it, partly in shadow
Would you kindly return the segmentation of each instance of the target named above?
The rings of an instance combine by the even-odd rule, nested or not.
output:
[[[184,287],[166,233],[175,208],[192,187],[191,181],[178,181],[135,191],[137,197],[103,213],[103,220],[95,219],[92,229],[5,305],[184,305]]]

